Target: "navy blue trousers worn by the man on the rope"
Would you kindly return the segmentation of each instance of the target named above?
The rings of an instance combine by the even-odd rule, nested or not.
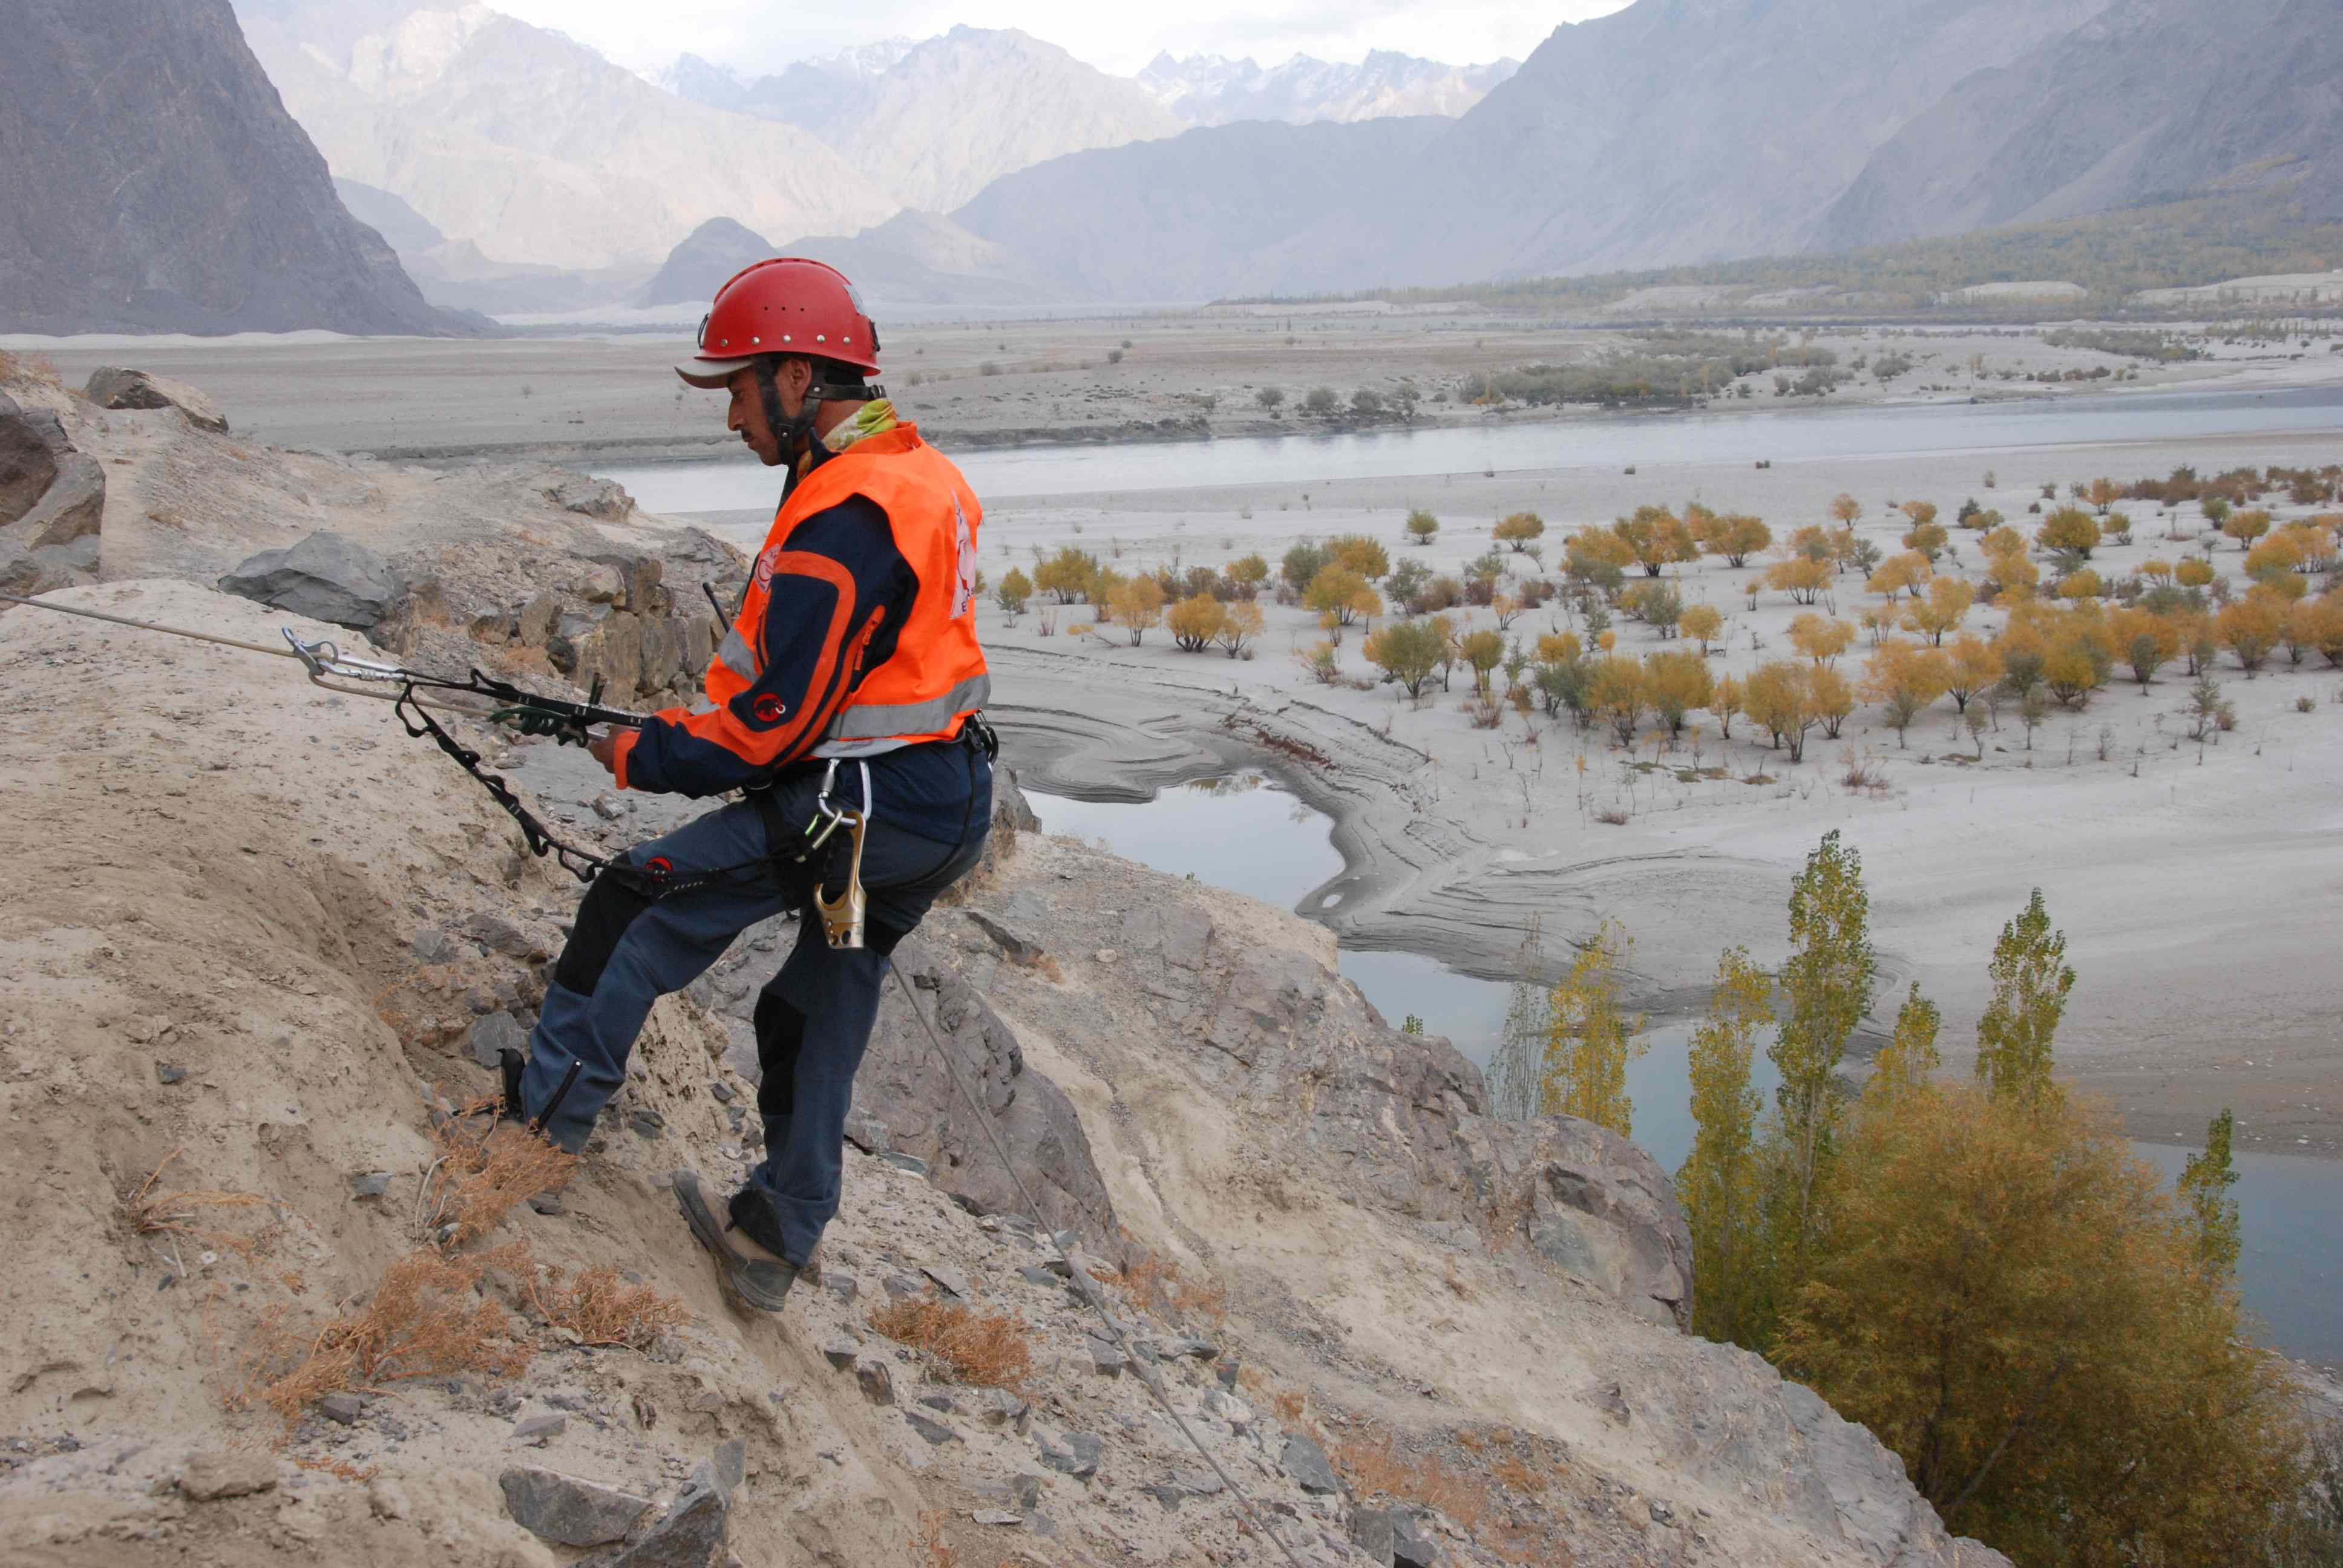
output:
[[[975,755],[975,766],[989,764]],[[843,783],[851,764],[839,773]],[[811,778],[776,785],[780,820],[808,820],[815,795]],[[750,926],[799,909],[797,949],[757,998],[757,1109],[766,1148],[750,1184],[780,1216],[785,1256],[804,1263],[839,1212],[846,1113],[879,1020],[886,954],[918,926],[944,888],[977,865],[986,827],[989,820],[972,818],[958,844],[888,827],[881,792],[862,844],[872,947],[848,952],[829,947],[813,914],[813,863],[771,863],[661,900],[602,877],[586,891],[546,987],[546,1005],[530,1036],[530,1066],[520,1078],[522,1111],[534,1116],[576,1062],[579,1078],[546,1134],[572,1153],[583,1148],[602,1106],[626,1083],[626,1062],[651,1003],[698,980]],[[759,811],[731,802],[663,839],[637,844],[626,860],[644,865],[665,855],[672,874],[686,877],[769,853]]]

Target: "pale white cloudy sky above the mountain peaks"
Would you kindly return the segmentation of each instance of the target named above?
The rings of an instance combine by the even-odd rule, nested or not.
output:
[[[1626,0],[1190,0],[1172,12],[1099,0],[490,0],[499,12],[560,28],[637,70],[677,54],[769,70],[881,38],[930,38],[954,23],[1024,28],[1104,70],[1134,73],[1157,49],[1251,54],[1272,66],[1289,54],[1354,61],[1403,49],[1436,61],[1516,59],[1558,23],[1617,12]]]

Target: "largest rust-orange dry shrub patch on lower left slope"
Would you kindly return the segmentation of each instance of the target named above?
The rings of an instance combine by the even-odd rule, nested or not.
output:
[[[272,1308],[246,1341],[230,1406],[262,1404],[291,1430],[309,1404],[344,1388],[452,1371],[515,1376],[530,1348],[511,1338],[506,1310],[478,1296],[480,1275],[513,1261],[525,1266],[518,1247],[478,1256],[415,1249],[382,1270],[363,1310],[340,1313],[316,1334]]]

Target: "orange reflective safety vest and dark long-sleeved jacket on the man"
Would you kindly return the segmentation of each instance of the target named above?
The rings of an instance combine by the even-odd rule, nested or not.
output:
[[[916,579],[909,607],[869,586],[855,551],[834,537],[808,539],[815,530],[836,534],[839,518],[869,509],[893,537],[890,570]],[[623,731],[619,788],[712,795],[808,757],[956,738],[991,694],[975,612],[982,520],[975,490],[914,424],[825,459],[773,518],[740,614],[708,666],[708,708],[670,708]],[[787,626],[769,626],[778,586],[790,588],[780,595]],[[787,668],[769,668],[783,645]]]

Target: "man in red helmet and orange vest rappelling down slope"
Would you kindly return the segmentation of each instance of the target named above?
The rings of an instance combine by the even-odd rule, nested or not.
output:
[[[621,790],[740,797],[595,879],[527,1059],[506,1055],[504,1106],[576,1153],[651,1003],[757,921],[797,912],[797,947],[754,1013],[764,1160],[729,1223],[696,1174],[675,1177],[726,1291],[778,1310],[839,1209],[888,954],[977,865],[991,825],[984,513],[874,384],[879,335],[834,267],[773,258],[736,274],[677,375],[731,394],[726,429],[787,469],[780,511],[708,701],[595,731],[590,750]]]

